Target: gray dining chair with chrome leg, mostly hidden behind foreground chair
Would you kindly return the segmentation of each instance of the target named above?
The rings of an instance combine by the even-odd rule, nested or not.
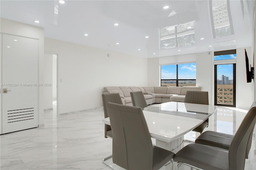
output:
[[[120,97],[119,93],[102,94],[102,102],[103,102],[103,110],[104,110],[104,117],[105,118],[109,117],[109,112],[108,112],[108,107],[107,107],[108,102],[122,104],[122,100],[121,100],[121,97]],[[112,138],[112,130],[111,130],[110,125],[105,124],[104,137],[105,138]],[[111,157],[112,157],[112,155],[107,156],[106,158],[103,158],[102,162],[104,164],[108,165],[106,163],[106,160],[111,158]]]

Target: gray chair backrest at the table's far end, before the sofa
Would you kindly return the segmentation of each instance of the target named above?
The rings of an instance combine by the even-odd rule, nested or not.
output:
[[[187,91],[184,103],[209,105],[208,91]]]

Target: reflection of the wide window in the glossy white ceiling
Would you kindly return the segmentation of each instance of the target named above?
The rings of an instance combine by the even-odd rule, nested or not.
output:
[[[194,21],[160,28],[160,49],[195,45]]]

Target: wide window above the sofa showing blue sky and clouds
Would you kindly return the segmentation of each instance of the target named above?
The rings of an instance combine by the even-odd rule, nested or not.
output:
[[[161,86],[196,86],[196,63],[161,65]]]

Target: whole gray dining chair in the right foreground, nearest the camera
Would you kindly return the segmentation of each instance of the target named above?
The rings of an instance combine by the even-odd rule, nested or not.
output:
[[[243,170],[255,122],[256,103],[253,103],[236,131],[228,151],[205,144],[188,144],[175,154],[173,159],[178,162],[176,168],[180,164],[186,164],[205,170]]]

